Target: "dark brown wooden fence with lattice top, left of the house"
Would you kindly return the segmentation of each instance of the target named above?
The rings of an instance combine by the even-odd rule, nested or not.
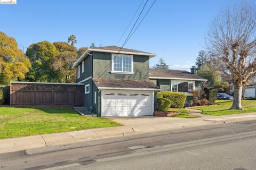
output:
[[[84,84],[11,82],[10,105],[84,106]]]

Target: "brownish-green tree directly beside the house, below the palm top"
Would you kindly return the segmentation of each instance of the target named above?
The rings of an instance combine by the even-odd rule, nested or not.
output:
[[[55,72],[60,73],[61,82],[76,82],[76,70],[72,69],[72,66],[76,60],[76,52],[65,51],[53,56],[51,66]]]

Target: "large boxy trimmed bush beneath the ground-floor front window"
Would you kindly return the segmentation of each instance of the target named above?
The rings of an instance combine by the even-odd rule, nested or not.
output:
[[[163,91],[162,95],[171,101],[172,108],[183,108],[187,98],[182,92]]]

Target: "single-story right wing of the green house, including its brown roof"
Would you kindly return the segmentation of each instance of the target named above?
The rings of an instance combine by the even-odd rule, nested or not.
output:
[[[185,106],[193,104],[191,90],[204,90],[204,82],[207,80],[184,70],[157,70],[149,69],[149,79],[154,82],[161,91],[177,91],[187,95]]]

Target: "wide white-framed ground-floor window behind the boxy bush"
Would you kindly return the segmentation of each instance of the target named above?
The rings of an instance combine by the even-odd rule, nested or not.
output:
[[[194,90],[194,82],[188,81],[171,81],[172,91],[190,94]]]

